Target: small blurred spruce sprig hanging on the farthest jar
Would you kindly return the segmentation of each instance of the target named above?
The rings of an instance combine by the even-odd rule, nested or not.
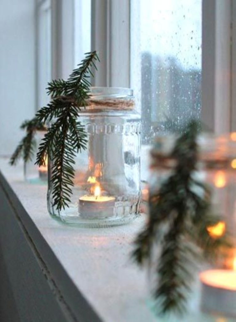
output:
[[[36,131],[46,130],[44,123],[37,118],[24,121],[20,128],[26,130],[26,135],[22,138],[10,158],[10,165],[12,166],[16,165],[21,157],[23,157],[25,163],[32,160],[36,148],[35,133]]]

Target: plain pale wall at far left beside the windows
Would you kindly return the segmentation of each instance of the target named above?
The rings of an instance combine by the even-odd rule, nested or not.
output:
[[[35,1],[1,0],[0,156],[13,152],[35,109]]]

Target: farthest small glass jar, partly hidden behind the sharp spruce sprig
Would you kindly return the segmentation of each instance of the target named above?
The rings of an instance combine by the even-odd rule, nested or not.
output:
[[[35,165],[36,154],[41,139],[44,137],[46,131],[37,130],[34,137],[34,151],[31,161],[24,164],[24,178],[27,182],[36,185],[46,185],[48,183],[48,160],[45,160],[46,166]]]

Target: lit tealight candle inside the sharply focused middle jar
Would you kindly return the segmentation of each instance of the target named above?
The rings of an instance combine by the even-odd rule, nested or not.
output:
[[[84,195],[79,198],[79,213],[87,219],[111,217],[114,206],[115,197],[102,196],[99,185],[95,186],[94,195]]]

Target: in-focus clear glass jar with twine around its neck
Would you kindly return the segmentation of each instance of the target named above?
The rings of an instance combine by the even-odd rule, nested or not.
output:
[[[69,224],[119,225],[139,214],[140,116],[130,89],[97,87],[91,95],[86,109],[79,112],[88,144],[76,156],[71,204],[62,211],[55,209],[49,180],[48,211]],[[51,166],[52,161],[49,177]]]

